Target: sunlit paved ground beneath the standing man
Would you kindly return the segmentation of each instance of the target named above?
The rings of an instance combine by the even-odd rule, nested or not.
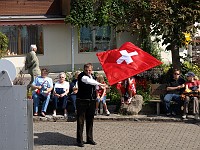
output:
[[[95,120],[98,144],[84,148],[76,146],[76,122],[35,121],[34,150],[200,150],[199,122],[111,120]]]

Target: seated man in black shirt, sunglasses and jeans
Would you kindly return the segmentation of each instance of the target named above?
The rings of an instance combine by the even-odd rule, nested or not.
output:
[[[164,97],[166,115],[176,115],[181,110],[181,94],[184,91],[185,80],[180,76],[180,70],[173,71],[173,78],[167,83],[167,94]],[[178,106],[171,109],[170,102],[175,101]]]

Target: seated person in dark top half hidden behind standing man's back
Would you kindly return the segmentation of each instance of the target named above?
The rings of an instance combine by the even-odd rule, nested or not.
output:
[[[80,71],[76,71],[74,74],[74,79],[70,83],[69,99],[72,101],[74,107],[74,113],[76,113],[76,94],[78,92],[78,75]]]

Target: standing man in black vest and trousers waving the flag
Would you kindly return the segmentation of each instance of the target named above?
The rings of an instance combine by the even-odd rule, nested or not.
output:
[[[92,75],[91,63],[84,65],[84,71],[78,75],[77,93],[77,145],[84,147],[83,128],[86,119],[86,144],[96,145],[93,140],[93,120],[95,114],[96,92],[95,86],[106,86],[97,82]]]

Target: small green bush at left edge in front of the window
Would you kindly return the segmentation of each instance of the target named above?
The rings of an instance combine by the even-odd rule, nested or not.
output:
[[[0,58],[2,58],[8,48],[8,38],[5,34],[0,32]]]

